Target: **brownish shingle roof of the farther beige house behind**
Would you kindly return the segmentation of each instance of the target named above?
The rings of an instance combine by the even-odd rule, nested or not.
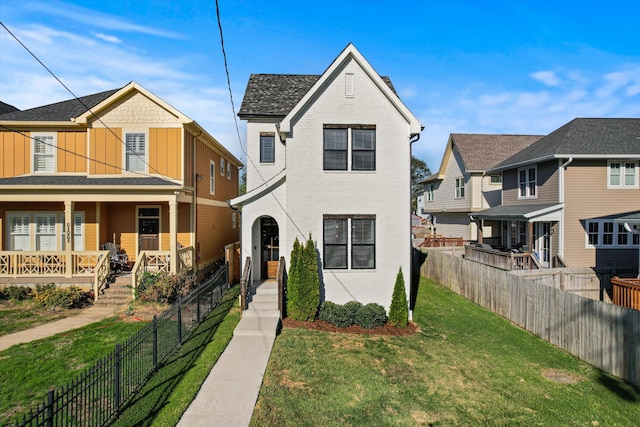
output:
[[[451,134],[467,171],[489,170],[540,138],[542,135]]]

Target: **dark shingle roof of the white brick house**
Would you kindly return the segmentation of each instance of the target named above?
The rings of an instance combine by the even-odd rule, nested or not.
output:
[[[320,77],[306,74],[251,74],[238,116],[284,117]],[[382,80],[396,93],[389,77],[382,77]]]

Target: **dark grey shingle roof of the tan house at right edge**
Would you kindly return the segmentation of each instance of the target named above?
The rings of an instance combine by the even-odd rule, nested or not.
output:
[[[640,119],[573,119],[566,125],[514,154],[495,169],[532,160],[596,155],[640,157]]]

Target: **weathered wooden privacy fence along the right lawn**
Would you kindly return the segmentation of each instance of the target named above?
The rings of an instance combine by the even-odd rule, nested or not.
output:
[[[640,385],[640,311],[424,250],[420,274],[603,371]]]

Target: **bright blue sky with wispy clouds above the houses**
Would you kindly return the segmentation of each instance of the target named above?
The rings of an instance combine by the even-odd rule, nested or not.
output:
[[[575,117],[640,117],[637,1],[219,5],[236,110],[251,73],[321,74],[352,42],[425,126],[413,149],[432,171],[450,133],[544,135]],[[215,0],[3,0],[0,21],[76,95],[136,81],[246,161]],[[0,100],[27,109],[71,97],[0,28]]]

